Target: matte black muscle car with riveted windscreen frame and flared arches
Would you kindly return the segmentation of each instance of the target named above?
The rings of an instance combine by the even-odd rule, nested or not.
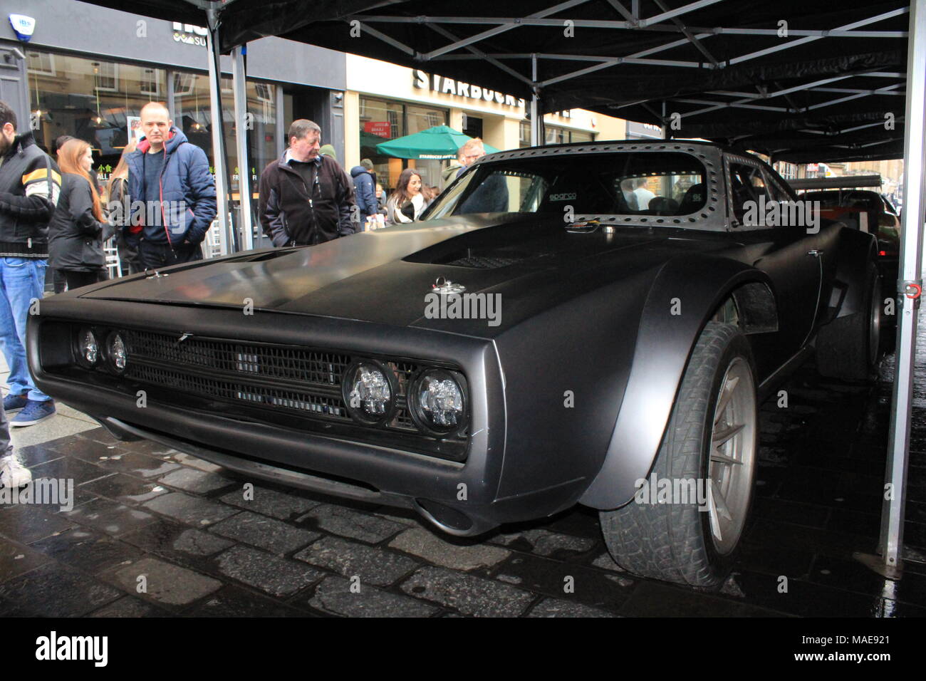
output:
[[[501,152],[423,221],[44,300],[29,359],[119,438],[457,536],[583,504],[628,571],[718,586],[757,404],[878,357],[875,238],[805,208],[717,145]]]

